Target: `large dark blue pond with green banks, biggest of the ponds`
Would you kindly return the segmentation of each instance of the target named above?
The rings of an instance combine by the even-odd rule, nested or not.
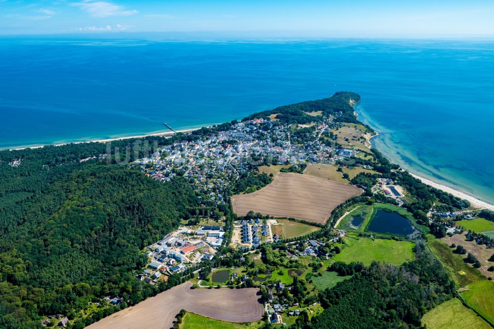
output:
[[[367,229],[377,233],[392,233],[405,236],[415,231],[407,218],[397,212],[384,210],[377,210]]]

